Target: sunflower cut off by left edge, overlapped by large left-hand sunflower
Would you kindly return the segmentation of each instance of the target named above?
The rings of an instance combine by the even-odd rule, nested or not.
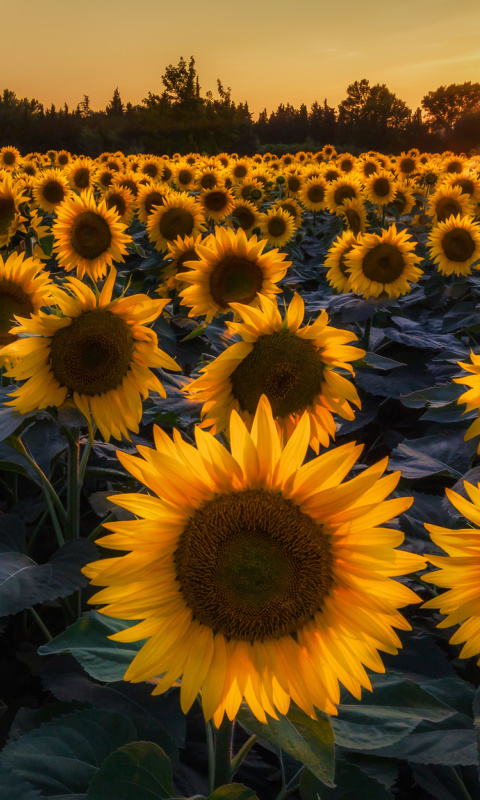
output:
[[[51,290],[49,273],[39,259],[14,252],[4,262],[0,255],[0,347],[17,338],[9,333],[15,316],[36,313],[49,302]]]

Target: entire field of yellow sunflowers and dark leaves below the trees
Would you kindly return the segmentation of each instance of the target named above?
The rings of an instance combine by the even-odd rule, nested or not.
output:
[[[2,800],[475,800],[480,156],[0,149]]]

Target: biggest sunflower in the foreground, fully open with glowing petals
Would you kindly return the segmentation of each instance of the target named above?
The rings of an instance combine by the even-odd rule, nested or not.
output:
[[[161,694],[181,677],[184,713],[200,693],[217,727],[243,698],[264,723],[291,699],[335,714],[339,681],[356,697],[371,689],[364,666],[384,671],[378,650],[397,653],[393,629],[410,628],[398,609],[419,601],[391,578],[425,561],[377,527],[411,505],[385,500],[400,473],[382,478],[384,459],[342,483],[353,443],[302,466],[308,428],[304,415],[282,447],[264,397],[251,433],[233,412],[231,453],[198,426],[197,448],[155,427],[155,449],[117,453],[152,494],[115,496],[139,518],[106,523],[97,543],[129,552],[83,568],[106,587],[89,602],[138,620],[113,641],[148,639],[124,680],[161,676]]]

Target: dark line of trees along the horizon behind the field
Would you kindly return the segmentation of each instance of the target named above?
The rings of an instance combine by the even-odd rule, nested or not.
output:
[[[106,108],[94,111],[90,98],[74,109],[45,108],[38,100],[0,95],[0,145],[22,153],[69,150],[92,157],[105,151],[173,155],[317,150],[324,144],[348,149],[399,153],[409,147],[429,152],[480,152],[480,83],[440,86],[414,112],[385,84],[363,78],[347,87],[335,109],[315,101],[295,108],[281,103],[253,120],[248,103],[235,103],[231,89],[217,80],[216,96],[202,95],[195,59],[182,57],[162,76],[160,94],[148,92],[141,104],[123,103],[118,87]]]

